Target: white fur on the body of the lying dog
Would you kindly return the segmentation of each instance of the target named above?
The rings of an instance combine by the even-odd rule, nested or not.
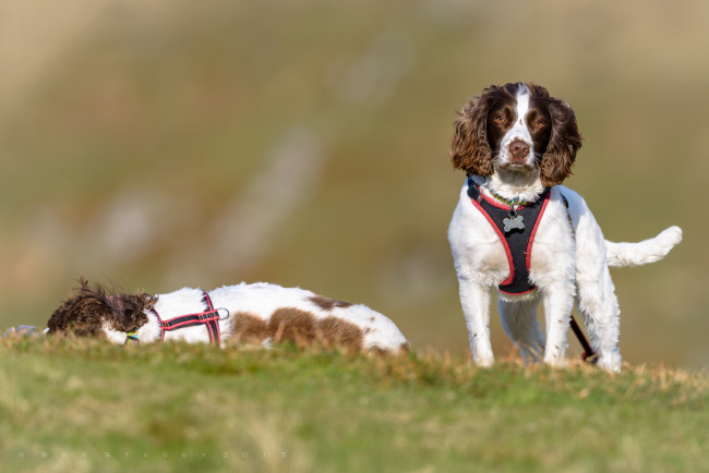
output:
[[[267,322],[279,308],[298,308],[308,312],[316,318],[328,316],[340,318],[362,329],[363,348],[396,351],[406,347],[407,341],[398,327],[386,316],[364,305],[348,305],[346,307],[333,307],[323,310],[314,304],[310,298],[315,296],[313,292],[299,288],[283,288],[269,283],[225,286],[209,292],[209,298],[215,308],[227,308],[229,318],[219,322],[223,344],[231,336],[230,328],[232,317],[238,313],[247,313],[261,317]],[[167,294],[159,294],[155,303],[155,310],[163,320],[180,315],[200,313],[206,307],[202,301],[201,289],[184,288]],[[146,311],[148,323],[139,329],[141,342],[154,342],[160,339],[160,327],[157,317]],[[110,341],[123,343],[125,333],[104,328]],[[177,330],[166,331],[165,340],[180,340],[190,343],[209,342],[209,335],[205,326],[185,327]],[[265,344],[269,344],[265,340]]]

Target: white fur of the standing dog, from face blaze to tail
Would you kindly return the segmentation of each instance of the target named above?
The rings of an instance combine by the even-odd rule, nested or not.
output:
[[[473,179],[488,195],[494,192],[506,198],[533,201],[544,189],[539,169],[503,169],[509,159],[507,145],[513,140],[526,141],[530,159],[534,156],[524,121],[529,108],[528,89],[517,95],[517,101],[518,116],[503,136],[495,172],[486,180]],[[509,277],[509,265],[497,234],[470,201],[467,184],[460,190],[448,240],[473,362],[491,366],[494,356],[490,343],[490,291]],[[671,227],[639,243],[606,242],[581,196],[563,185],[552,187],[530,256],[529,280],[537,289],[522,295],[500,292],[498,311],[505,332],[520,348],[526,362],[543,356],[544,363],[563,366],[569,315],[576,301],[585,316],[591,347],[599,354],[599,366],[618,372],[620,308],[609,265],[636,266],[659,260],[681,240],[682,230]],[[545,337],[537,320],[539,302],[544,306]]]

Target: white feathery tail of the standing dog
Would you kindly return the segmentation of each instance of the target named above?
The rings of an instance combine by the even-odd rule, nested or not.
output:
[[[614,268],[647,265],[665,257],[681,241],[680,227],[670,227],[656,238],[637,243],[615,243],[605,240],[605,257],[608,265]]]

